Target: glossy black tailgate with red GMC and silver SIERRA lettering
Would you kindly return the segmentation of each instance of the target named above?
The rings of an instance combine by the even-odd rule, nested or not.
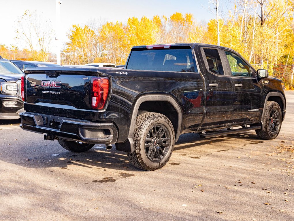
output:
[[[91,75],[97,76],[97,70],[35,68],[25,73],[27,112],[91,119]]]

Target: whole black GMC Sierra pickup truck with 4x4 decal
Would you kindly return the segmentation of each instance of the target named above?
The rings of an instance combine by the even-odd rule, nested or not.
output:
[[[285,118],[283,87],[229,48],[136,46],[124,70],[26,69],[20,126],[74,152],[116,144],[134,166],[151,171],[168,162],[184,133],[255,130],[274,139]]]

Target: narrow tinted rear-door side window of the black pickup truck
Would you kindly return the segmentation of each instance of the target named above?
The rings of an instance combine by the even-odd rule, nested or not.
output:
[[[208,70],[216,75],[224,75],[223,65],[220,61],[218,50],[211,48],[203,48],[203,50],[208,64]]]

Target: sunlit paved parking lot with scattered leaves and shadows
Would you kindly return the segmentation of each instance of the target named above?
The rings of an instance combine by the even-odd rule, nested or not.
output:
[[[294,220],[294,92],[280,135],[182,135],[166,166],[134,168],[95,145],[57,141],[0,121],[0,220]]]

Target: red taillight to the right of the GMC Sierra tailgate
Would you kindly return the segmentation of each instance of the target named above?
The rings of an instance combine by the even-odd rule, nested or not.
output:
[[[109,92],[109,78],[91,77],[92,83],[92,108],[102,110],[106,104]]]

